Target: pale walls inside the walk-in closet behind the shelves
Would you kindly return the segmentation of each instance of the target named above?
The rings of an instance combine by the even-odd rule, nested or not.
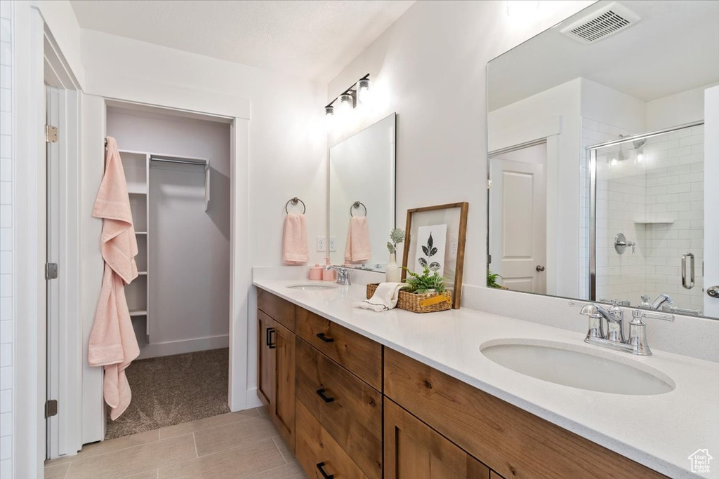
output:
[[[145,334],[138,338],[140,358],[226,347],[229,124],[108,108],[107,134],[114,136],[120,149],[210,160],[211,201],[207,211],[203,208],[202,167],[152,163],[150,234],[149,238],[138,236],[138,244],[145,251],[150,241],[149,276],[137,280],[137,287],[143,289],[142,299],[147,291],[145,281],[150,284],[150,344],[145,344]],[[141,203],[144,213],[147,203]],[[147,255],[143,253],[142,258],[147,259]],[[138,264],[141,266],[147,269],[147,261]],[[133,322],[142,323],[143,329],[144,320],[145,317],[133,318]]]

